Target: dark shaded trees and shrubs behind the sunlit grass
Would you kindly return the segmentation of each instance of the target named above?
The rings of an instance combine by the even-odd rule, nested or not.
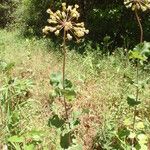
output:
[[[42,35],[42,28],[47,22],[46,9],[56,10],[62,1],[57,0],[1,0],[1,26],[7,22],[15,22],[23,35]],[[68,4],[80,5],[81,20],[86,23],[90,34],[87,39],[94,43],[101,43],[108,35],[112,49],[117,46],[130,47],[138,43],[139,32],[135,16],[130,9],[126,9],[123,0],[71,0]],[[141,13],[144,27],[144,40],[150,37],[150,12]],[[92,22],[92,23],[91,23]],[[117,26],[116,26],[117,24]],[[129,42],[130,41],[130,42]]]

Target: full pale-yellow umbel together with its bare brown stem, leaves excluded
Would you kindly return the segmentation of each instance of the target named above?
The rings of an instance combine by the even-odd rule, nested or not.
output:
[[[85,34],[89,33],[89,30],[85,29],[84,22],[78,23],[78,18],[80,13],[78,12],[79,6],[76,4],[74,6],[66,6],[66,3],[62,3],[62,10],[57,10],[53,12],[51,9],[47,10],[50,18],[47,20],[49,25],[45,26],[43,33],[48,34],[53,32],[56,36],[62,35],[62,50],[63,50],[63,67],[62,67],[62,85],[63,90],[65,90],[65,68],[66,68],[66,40],[72,40],[75,38],[79,40],[84,37]],[[67,103],[64,96],[64,107],[66,113],[66,120],[68,120]]]

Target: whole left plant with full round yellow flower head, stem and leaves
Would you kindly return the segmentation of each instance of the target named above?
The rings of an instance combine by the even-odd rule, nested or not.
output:
[[[71,144],[72,140],[72,131],[71,128],[77,125],[75,120],[69,118],[69,109],[68,109],[68,102],[72,101],[73,98],[76,96],[76,92],[74,90],[73,84],[70,80],[65,78],[65,68],[66,68],[66,56],[67,56],[67,48],[66,42],[71,40],[80,41],[86,34],[89,33],[89,30],[85,28],[84,22],[78,22],[80,17],[80,13],[78,11],[79,6],[75,4],[74,6],[67,6],[66,3],[62,3],[62,9],[53,12],[51,9],[47,10],[49,14],[49,19],[47,26],[43,28],[43,33],[49,34],[54,33],[56,36],[62,36],[62,52],[63,52],[63,65],[62,65],[62,73],[51,74],[50,77],[50,84],[53,86],[54,91],[51,96],[53,98],[62,97],[63,99],[63,107],[65,112],[65,117],[63,119],[59,119],[58,115],[55,115],[49,120],[51,125],[54,125],[53,122],[57,120],[57,124],[55,125],[56,128],[62,128],[64,131],[64,126],[66,126],[65,134],[61,133],[60,140],[66,138],[68,145]],[[64,120],[64,121],[62,121]],[[71,121],[70,121],[71,120]],[[58,127],[58,124],[61,126]],[[68,127],[69,131],[68,131]],[[64,143],[64,142],[62,142]],[[67,148],[61,145],[62,148]]]

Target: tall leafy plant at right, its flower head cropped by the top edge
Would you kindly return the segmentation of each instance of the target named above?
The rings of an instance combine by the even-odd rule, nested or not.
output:
[[[124,149],[148,150],[148,136],[145,132],[145,124],[139,117],[138,105],[141,104],[139,93],[149,81],[149,79],[140,81],[139,66],[144,65],[144,62],[148,60],[148,57],[150,56],[150,44],[148,42],[143,42],[143,27],[139,12],[145,12],[150,9],[150,0],[124,0],[124,5],[126,8],[131,8],[131,10],[135,13],[140,29],[140,43],[133,50],[129,51],[129,59],[133,60],[136,66],[135,79],[127,77],[129,83],[134,85],[136,89],[135,95],[128,95],[127,97],[129,107],[133,108],[133,119],[128,117],[124,122],[126,127],[126,136],[120,137],[118,134],[117,137],[121,141]],[[123,133],[124,131],[122,129],[119,132]]]

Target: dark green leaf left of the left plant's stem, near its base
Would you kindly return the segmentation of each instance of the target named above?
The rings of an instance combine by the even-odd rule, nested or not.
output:
[[[65,121],[58,117],[58,115],[54,115],[52,118],[48,121],[48,126],[54,126],[56,128],[61,128]]]

